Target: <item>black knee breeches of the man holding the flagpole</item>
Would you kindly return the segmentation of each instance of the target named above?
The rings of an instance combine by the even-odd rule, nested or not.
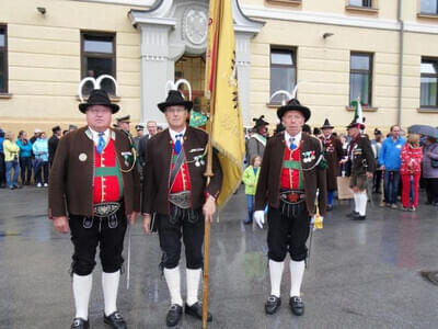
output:
[[[201,209],[197,212],[199,216],[195,223],[185,217],[170,220],[169,215],[157,215],[160,247],[163,251],[162,265],[165,269],[174,269],[180,263],[181,237],[185,247],[186,268],[197,270],[203,266],[205,222]]]

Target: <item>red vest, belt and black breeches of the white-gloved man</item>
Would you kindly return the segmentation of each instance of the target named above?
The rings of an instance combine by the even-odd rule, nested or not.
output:
[[[285,143],[286,144],[286,143]],[[291,150],[285,145],[280,173],[280,205],[269,206],[267,214],[268,257],[283,262],[289,251],[293,261],[307,258],[310,216],[306,205],[301,147]]]

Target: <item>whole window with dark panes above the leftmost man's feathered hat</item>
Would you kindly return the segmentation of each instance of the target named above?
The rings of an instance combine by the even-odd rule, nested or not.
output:
[[[99,78],[110,75],[116,78],[116,36],[113,33],[82,32],[82,79],[85,77]],[[92,83],[87,83],[83,94],[89,94]],[[110,79],[102,81],[101,88],[110,94],[115,94],[114,83]]]

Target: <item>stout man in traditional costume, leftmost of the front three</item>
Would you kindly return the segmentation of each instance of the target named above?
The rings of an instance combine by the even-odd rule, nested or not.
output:
[[[79,104],[88,126],[59,140],[50,171],[49,216],[56,230],[71,231],[72,288],[76,317],[71,328],[89,328],[89,300],[96,247],[100,245],[104,322],[126,328],[116,306],[127,220],[134,224],[140,209],[140,188],[131,143],[111,129],[112,104],[107,93],[93,90]]]

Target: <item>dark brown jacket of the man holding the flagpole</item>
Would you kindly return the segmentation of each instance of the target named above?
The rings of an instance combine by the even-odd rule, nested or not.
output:
[[[207,147],[208,135],[197,128],[187,127],[184,134],[183,150],[188,162],[188,172],[192,184],[192,207],[200,208],[205,203],[204,192],[218,197],[222,185],[222,170],[217,156],[212,155],[214,177],[206,189],[206,166],[195,166],[194,157],[204,154]],[[172,137],[169,129],[157,134],[147,143],[145,156],[145,183],[142,190],[141,213],[169,215],[169,181],[172,157]],[[204,158],[207,162],[207,157]]]

